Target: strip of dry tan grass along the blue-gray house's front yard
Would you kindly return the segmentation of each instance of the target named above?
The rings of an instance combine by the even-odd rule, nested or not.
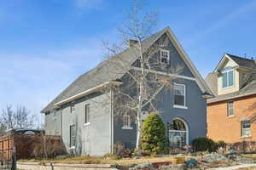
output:
[[[19,160],[20,162],[30,161],[30,162],[40,162],[40,163],[71,163],[71,164],[117,164],[119,166],[131,166],[134,164],[141,164],[147,162],[162,162],[162,161],[172,161],[173,156],[163,156],[163,157],[141,157],[141,158],[123,158],[117,160],[116,158],[104,158],[104,157],[89,157],[89,156],[76,156],[64,159],[32,159],[32,160]]]

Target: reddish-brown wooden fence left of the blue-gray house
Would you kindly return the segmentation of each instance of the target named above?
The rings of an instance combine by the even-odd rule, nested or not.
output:
[[[1,160],[11,160],[14,148],[17,159],[53,157],[66,153],[60,136],[13,134],[0,137]]]

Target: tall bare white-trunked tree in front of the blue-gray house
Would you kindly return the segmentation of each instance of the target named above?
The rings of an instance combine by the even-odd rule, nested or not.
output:
[[[138,4],[140,3],[140,4]],[[148,37],[154,30],[157,14],[145,13],[141,1],[134,0],[128,22],[118,31],[123,37],[121,45],[104,46],[110,52],[108,61],[115,65],[115,74],[125,74],[125,82],[114,88],[114,109],[117,116],[131,115],[137,123],[137,155],[141,155],[141,130],[143,111],[159,112],[160,93],[172,88],[173,75],[183,70],[183,65],[171,66],[168,59],[160,59],[160,49],[168,48],[169,38],[150,44]],[[124,45],[127,59],[120,51]],[[172,56],[176,51],[170,51]],[[109,72],[113,71],[109,70]]]

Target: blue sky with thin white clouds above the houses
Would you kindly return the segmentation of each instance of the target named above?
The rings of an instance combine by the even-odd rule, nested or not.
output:
[[[103,58],[131,0],[12,0],[0,4],[0,109],[39,113]],[[224,53],[256,57],[256,0],[148,0],[203,77]]]

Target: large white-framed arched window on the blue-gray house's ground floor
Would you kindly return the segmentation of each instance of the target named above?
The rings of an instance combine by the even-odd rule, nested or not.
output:
[[[189,144],[189,127],[181,118],[173,119],[171,127],[168,129],[170,146],[172,148],[182,148]]]

